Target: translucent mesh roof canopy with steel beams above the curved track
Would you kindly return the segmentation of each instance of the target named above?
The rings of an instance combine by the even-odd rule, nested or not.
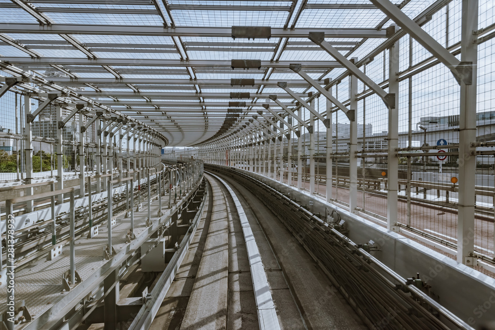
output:
[[[384,30],[393,21],[369,0],[32,0],[23,3],[29,3],[32,10],[26,10],[19,1],[0,0],[0,24],[4,24],[6,32],[1,34],[0,31],[1,76],[15,72],[5,68],[3,61],[8,60],[10,65],[59,86],[81,91],[84,97],[99,97],[109,106],[136,116],[161,132],[169,132],[167,136],[175,144],[186,143],[184,141],[194,144],[217,134],[228,102],[232,100],[247,102],[247,107],[242,108],[244,118],[236,121],[234,127],[239,127],[254,111],[261,110],[268,94],[278,94],[279,100],[294,106],[294,99],[276,85],[278,81],[287,81],[291,90],[304,93],[307,99],[305,94],[315,88],[292,71],[290,63],[302,63],[302,70],[321,85],[325,78],[338,81],[334,83],[338,87],[332,87],[332,92],[346,102],[348,72],[327,65],[336,61],[307,38],[308,31],[313,29],[370,29],[382,34],[363,33],[361,37],[345,38],[343,34],[332,35],[329,31],[325,40],[347,58],[369,58],[359,67],[375,82],[386,83],[388,79],[389,50],[384,47],[384,43],[388,44]],[[403,6],[401,10],[411,18],[420,14],[431,16],[422,28],[442,46],[452,47],[460,41],[462,8],[459,1],[393,0],[393,3]],[[479,8],[479,28],[484,30],[480,32],[482,42],[478,47],[484,49],[480,51],[483,63],[488,63],[491,48],[481,48],[481,45],[488,44],[487,36],[493,32],[493,0],[480,0]],[[64,33],[64,29],[48,28],[47,22],[51,27],[67,24],[75,32],[69,34]],[[20,26],[14,31],[8,28],[10,23]],[[175,27],[170,28],[171,25]],[[271,27],[272,37],[234,40],[232,26]],[[293,38],[294,34],[300,38]],[[417,41],[409,49],[407,36],[401,38],[399,50],[401,75],[418,75],[416,70],[421,68],[414,67],[411,71],[410,66],[431,57]],[[249,70],[232,69],[230,61],[233,59],[261,60],[263,64]],[[254,79],[255,85],[240,86],[240,82],[231,82],[231,79]],[[244,83],[251,84],[250,81]],[[408,79],[401,80],[401,84],[408,84]],[[22,89],[21,86],[15,89]],[[47,87],[47,90],[52,89]],[[365,85],[359,82],[358,89],[361,93]],[[405,87],[402,89],[407,91]],[[230,93],[246,92],[250,97],[241,99],[237,98],[240,95],[233,95],[230,98]],[[120,102],[115,103],[113,99]],[[149,100],[152,103],[147,103]],[[274,102],[270,103],[279,109]],[[324,110],[323,98],[315,103]],[[136,111],[128,110],[126,104],[149,112],[166,110],[170,115],[144,119]],[[156,111],[153,105],[160,105],[161,109]],[[201,121],[201,105],[206,106],[205,115],[210,118],[207,129]],[[366,103],[366,109],[370,107],[373,105]],[[187,115],[182,113],[191,114],[194,120],[188,121]],[[184,127],[196,127],[194,133],[188,135],[187,129],[184,135],[177,133],[178,128],[171,120],[177,120]],[[203,132],[205,135],[201,137]]]

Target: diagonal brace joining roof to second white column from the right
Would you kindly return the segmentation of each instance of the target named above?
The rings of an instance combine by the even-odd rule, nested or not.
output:
[[[328,42],[325,41],[325,33],[323,32],[309,32],[309,40],[311,40],[316,45],[322,47],[326,52],[332,55],[333,58],[337,60],[340,64],[345,66],[350,73],[362,81],[366,86],[368,86],[373,92],[378,94],[385,104],[391,108],[395,108],[395,94],[388,94],[378,86],[373,80],[371,80],[364,72],[359,70],[359,68],[346,56],[342,55],[337,49],[332,47]]]

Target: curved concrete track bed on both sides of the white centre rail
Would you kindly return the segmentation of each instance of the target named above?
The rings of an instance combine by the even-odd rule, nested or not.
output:
[[[239,212],[226,187],[213,176],[205,177],[210,183],[207,208],[150,329],[259,328]],[[244,209],[280,328],[366,329],[311,256],[261,200],[232,179],[221,178]]]

